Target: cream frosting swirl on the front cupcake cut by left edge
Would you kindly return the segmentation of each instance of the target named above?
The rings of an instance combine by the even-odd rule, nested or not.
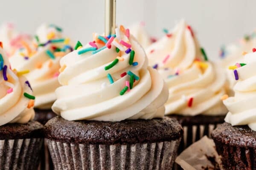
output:
[[[9,61],[3,48],[0,48],[4,64],[7,65],[7,81],[0,71],[0,126],[7,123],[27,123],[34,119],[35,112],[32,107],[28,108],[30,99],[23,96],[24,93],[32,94],[32,90],[26,84],[26,79],[9,69]],[[11,92],[9,89],[12,88]]]

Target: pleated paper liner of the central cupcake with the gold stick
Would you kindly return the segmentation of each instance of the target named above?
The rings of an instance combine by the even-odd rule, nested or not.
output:
[[[171,170],[179,143],[105,145],[47,139],[55,170]]]

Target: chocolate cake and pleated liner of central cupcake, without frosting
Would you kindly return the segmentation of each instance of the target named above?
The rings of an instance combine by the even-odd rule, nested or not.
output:
[[[183,130],[169,118],[73,122],[57,116],[45,133],[58,170],[170,170]]]

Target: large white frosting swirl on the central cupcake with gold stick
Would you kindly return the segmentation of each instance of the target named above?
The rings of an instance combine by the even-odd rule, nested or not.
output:
[[[67,120],[98,120],[121,121],[124,119],[152,119],[162,118],[165,112],[164,103],[168,99],[168,89],[154,69],[148,67],[148,60],[140,44],[131,35],[128,39],[121,32],[116,39],[128,41],[135,51],[134,62],[129,65],[130,54],[124,51],[116,52],[116,46],[93,54],[91,51],[78,54],[85,47],[67,54],[61,59],[61,66],[66,69],[59,75],[61,83],[55,93],[57,100],[52,110]],[[115,41],[115,40],[114,40]],[[96,43],[99,48],[103,45]],[[124,48],[124,46],[123,46]],[[116,57],[122,57],[111,69],[105,70]],[[125,82],[130,80],[127,74],[132,71],[140,79],[133,88],[120,95]],[[114,82],[110,84],[107,74],[111,74]]]

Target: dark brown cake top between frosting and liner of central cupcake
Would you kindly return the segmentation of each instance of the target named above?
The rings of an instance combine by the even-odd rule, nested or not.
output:
[[[60,116],[45,125],[45,136],[60,142],[134,144],[178,139],[183,134],[174,119],[124,120],[121,122],[67,121]]]

